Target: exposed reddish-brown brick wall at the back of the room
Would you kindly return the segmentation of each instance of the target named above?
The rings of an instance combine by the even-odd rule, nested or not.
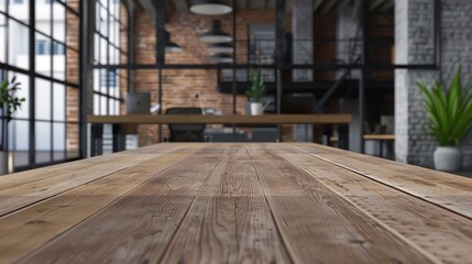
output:
[[[272,11],[243,11],[237,14],[237,51],[238,63],[246,62],[248,24],[274,23],[275,12]],[[232,15],[206,16],[191,13],[175,13],[166,23],[171,32],[171,40],[183,48],[177,54],[166,54],[166,64],[209,64],[210,54],[206,44],[198,36],[206,29],[211,28],[213,19],[221,20],[221,28],[232,35]],[[289,31],[289,16],[286,19],[286,30]],[[134,48],[135,59],[140,64],[155,63],[155,32],[147,16],[142,11],[136,14],[136,33]],[[152,95],[152,102],[157,103],[158,92],[157,70],[135,70],[134,87],[136,91],[147,91]],[[200,94],[201,105],[205,108],[215,108],[223,114],[232,113],[232,96],[217,91],[217,70],[215,69],[165,69],[163,70],[163,111],[171,107],[199,107],[195,98]],[[243,113],[245,96],[238,96],[237,111]],[[166,125],[164,125],[166,129]],[[140,125],[140,145],[146,143],[146,138],[152,134],[157,142],[157,125]],[[166,130],[164,135],[166,135]]]

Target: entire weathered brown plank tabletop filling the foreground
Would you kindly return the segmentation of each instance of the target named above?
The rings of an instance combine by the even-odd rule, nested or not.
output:
[[[301,143],[0,177],[0,263],[472,263],[472,179]]]

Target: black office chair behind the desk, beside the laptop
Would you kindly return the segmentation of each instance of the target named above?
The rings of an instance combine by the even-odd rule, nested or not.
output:
[[[202,114],[201,108],[168,108],[166,114]],[[206,124],[167,124],[171,142],[204,142]]]

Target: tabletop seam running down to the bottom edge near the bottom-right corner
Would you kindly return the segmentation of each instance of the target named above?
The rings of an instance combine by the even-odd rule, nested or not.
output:
[[[292,163],[294,166],[303,169],[304,172],[306,172],[307,174],[311,175],[312,174],[307,170],[304,166],[299,165],[297,162],[292,161],[292,158],[287,158],[285,155],[279,155],[281,157],[283,157],[284,160],[288,161],[289,163]],[[316,157],[318,158],[318,157]],[[321,160],[321,158],[320,158]],[[322,162],[326,162],[328,164],[338,166],[336,164],[329,163],[327,161],[321,160]],[[339,166],[338,166],[339,167]],[[341,169],[347,169],[344,167],[341,167]],[[350,169],[347,169],[351,173],[353,173]],[[356,173],[355,173],[356,174]],[[356,174],[359,175],[359,174]],[[361,175],[362,176],[362,175]],[[432,255],[431,253],[429,253],[428,251],[424,250],[421,246],[419,246],[417,243],[410,241],[409,239],[407,239],[405,235],[400,234],[398,231],[396,231],[395,229],[391,228],[388,224],[384,223],[383,221],[381,221],[380,219],[377,219],[376,217],[372,216],[372,213],[370,213],[369,211],[364,210],[362,207],[358,206],[355,202],[351,201],[348,197],[345,197],[343,194],[337,191],[336,189],[331,188],[330,186],[328,186],[327,184],[325,184],[322,180],[319,180],[317,177],[312,176],[316,180],[318,180],[319,183],[321,183],[323,186],[326,186],[328,189],[332,190],[333,193],[336,193],[339,197],[341,197],[342,199],[344,199],[347,202],[349,202],[350,205],[352,205],[353,207],[355,207],[356,209],[359,209],[360,211],[362,211],[364,215],[369,216],[371,219],[373,219],[376,223],[378,223],[380,226],[382,226],[385,230],[389,231],[391,233],[393,233],[395,237],[397,237],[400,241],[407,243],[409,246],[414,248],[416,251],[418,251],[420,254],[425,255],[425,257],[427,257],[429,261],[431,261],[432,263],[442,263],[440,260],[438,260],[438,257],[436,257],[435,255]],[[376,180],[374,180],[376,182]],[[377,184],[382,184],[376,182]],[[383,184],[382,184],[383,185]],[[391,187],[391,186],[387,186]],[[408,195],[408,194],[405,194]]]

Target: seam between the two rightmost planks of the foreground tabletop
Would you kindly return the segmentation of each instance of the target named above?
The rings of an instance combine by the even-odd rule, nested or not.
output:
[[[331,160],[329,160],[329,157],[323,157],[323,156],[320,156],[318,154],[310,153],[310,152],[307,152],[307,151],[305,151],[303,148],[298,148],[298,147],[296,150],[472,220],[472,211],[464,210],[461,208],[451,207],[452,204],[448,205],[449,202],[441,202],[438,199],[435,199],[433,197],[431,197],[429,195],[415,194],[414,191],[409,190],[408,188],[405,188],[404,186],[396,186],[395,184],[388,183],[388,179],[384,179],[384,178],[382,178],[382,176],[375,176],[375,175],[371,175],[370,173],[361,172],[356,168],[349,167],[349,166],[343,165],[339,162],[331,161]],[[415,177],[415,176],[411,176],[411,177]],[[460,176],[458,176],[458,177],[460,177]],[[444,188],[452,188],[452,187],[447,186],[447,185],[442,185],[442,186]],[[460,190],[460,189],[458,189],[458,191],[466,193],[466,191]]]

